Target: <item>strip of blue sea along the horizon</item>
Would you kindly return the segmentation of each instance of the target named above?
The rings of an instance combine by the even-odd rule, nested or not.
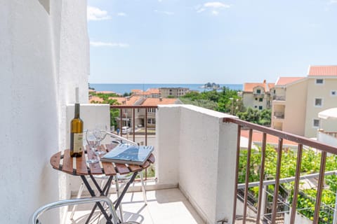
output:
[[[90,87],[93,87],[96,91],[112,91],[119,94],[129,93],[131,90],[143,90],[157,89],[160,87],[185,87],[190,90],[199,92],[209,91],[202,88],[204,84],[153,84],[153,83],[124,83],[124,84],[108,84],[108,83],[90,83]],[[227,87],[230,90],[242,90],[242,84],[219,84],[220,87]],[[221,91],[221,90],[218,90]]]

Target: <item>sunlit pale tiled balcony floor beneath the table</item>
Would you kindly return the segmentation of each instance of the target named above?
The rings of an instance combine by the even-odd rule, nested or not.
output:
[[[116,195],[112,194],[110,198],[115,200]],[[68,217],[71,209],[69,209]],[[77,208],[73,221],[67,217],[66,223],[85,223],[86,217],[90,213],[89,209],[91,209],[90,205],[81,205]],[[146,206],[143,201],[143,193],[127,193],[123,199],[123,210],[124,221],[137,221],[142,224],[205,223],[178,188],[147,191]],[[105,219],[102,218],[102,220],[102,223],[105,223]],[[100,221],[95,218],[95,221],[91,223],[100,223]]]

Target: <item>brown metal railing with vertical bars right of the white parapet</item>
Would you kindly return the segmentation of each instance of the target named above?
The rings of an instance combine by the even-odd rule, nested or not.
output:
[[[263,195],[263,188],[261,186],[265,186],[267,181],[264,181],[265,176],[265,158],[266,158],[266,144],[267,144],[267,134],[272,135],[274,137],[278,137],[278,147],[277,147],[277,164],[276,164],[276,176],[273,194],[273,201],[272,201],[272,212],[271,212],[271,223],[275,223],[278,215],[278,202],[279,202],[279,184],[280,184],[280,174],[281,174],[281,161],[282,161],[282,151],[283,151],[283,141],[284,139],[296,142],[298,144],[298,152],[297,152],[297,161],[296,161],[296,176],[294,178],[294,186],[293,186],[293,200],[291,203],[291,216],[290,216],[290,223],[295,222],[296,216],[296,205],[298,201],[298,190],[299,190],[299,183],[300,183],[300,169],[302,164],[302,153],[303,153],[303,146],[308,146],[311,148],[315,148],[321,152],[321,160],[320,160],[320,169],[318,175],[318,182],[317,182],[317,197],[315,202],[315,214],[313,218],[313,223],[319,222],[319,211],[321,207],[321,199],[322,199],[322,190],[324,187],[324,172],[325,172],[325,165],[326,165],[326,153],[331,153],[336,155],[337,148],[328,146],[326,144],[319,143],[318,141],[313,141],[311,139],[307,139],[305,137],[300,137],[295,134],[289,134],[286,132],[281,132],[278,130],[274,130],[268,127],[263,127],[260,125],[255,125],[253,123],[248,123],[243,120],[239,120],[237,118],[224,118],[223,121],[225,123],[235,123],[238,126],[237,131],[237,155],[236,155],[236,173],[235,173],[235,187],[234,187],[234,195],[238,193],[238,174],[239,174],[239,152],[240,152],[240,137],[241,137],[241,130],[243,128],[249,130],[249,146],[247,149],[247,161],[246,161],[246,179],[244,182],[244,212],[243,212],[243,220],[242,223],[246,223],[246,214],[247,214],[247,206],[249,206],[248,197],[249,197],[249,177],[250,177],[250,166],[251,166],[251,148],[252,148],[252,137],[253,137],[253,130],[263,132],[263,142],[261,147],[261,162],[260,162],[260,180],[258,186],[260,186],[258,190],[258,204],[257,204],[257,216],[256,216],[256,223],[260,223],[260,214],[261,214],[261,204],[262,202],[262,195]],[[283,181],[283,180],[282,180]],[[233,202],[233,220],[232,223],[235,223],[235,218],[237,217],[236,213],[237,208],[237,197],[234,198]]]

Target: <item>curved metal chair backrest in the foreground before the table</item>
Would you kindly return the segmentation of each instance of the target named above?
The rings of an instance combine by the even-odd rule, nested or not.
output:
[[[93,202],[106,202],[109,209],[110,214],[112,214],[112,223],[117,224],[119,223],[119,219],[117,217],[116,211],[114,210],[114,204],[112,201],[107,197],[90,197],[90,198],[79,198],[79,199],[72,199],[72,200],[62,200],[58,202],[52,202],[50,204],[46,204],[39,209],[37,209],[34,214],[32,214],[31,218],[29,218],[29,224],[37,224],[39,216],[43,214],[45,211],[50,209],[55,209],[58,207],[63,207],[67,205],[74,205],[74,204],[86,204],[86,203],[93,203]]]

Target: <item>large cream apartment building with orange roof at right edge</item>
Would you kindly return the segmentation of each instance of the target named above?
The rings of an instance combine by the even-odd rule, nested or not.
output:
[[[318,113],[337,106],[337,66],[309,66],[307,77],[280,77],[272,101],[272,127],[305,137],[317,130],[335,130],[336,122]]]

